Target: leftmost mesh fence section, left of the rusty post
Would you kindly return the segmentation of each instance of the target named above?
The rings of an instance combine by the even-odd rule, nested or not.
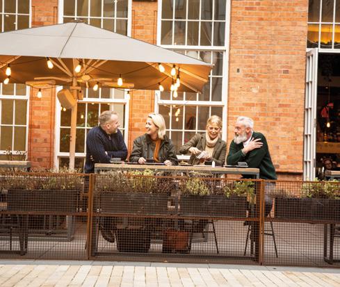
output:
[[[1,258],[87,259],[84,181],[83,174],[1,174]]]

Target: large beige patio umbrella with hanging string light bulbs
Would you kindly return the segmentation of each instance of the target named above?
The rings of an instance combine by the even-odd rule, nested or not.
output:
[[[75,100],[82,99],[81,87],[170,90],[177,78],[178,91],[201,92],[212,68],[200,60],[82,22],[0,33],[0,43],[1,82],[35,88],[70,86],[72,94],[64,96]],[[75,137],[76,104],[71,115],[71,168]]]

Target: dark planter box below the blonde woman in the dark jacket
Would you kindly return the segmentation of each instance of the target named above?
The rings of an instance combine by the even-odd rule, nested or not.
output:
[[[168,194],[138,192],[101,192],[95,207],[103,213],[167,214]]]

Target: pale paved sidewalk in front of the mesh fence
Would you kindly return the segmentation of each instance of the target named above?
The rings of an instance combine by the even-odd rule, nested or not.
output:
[[[108,261],[0,261],[0,286],[340,286],[340,269]]]

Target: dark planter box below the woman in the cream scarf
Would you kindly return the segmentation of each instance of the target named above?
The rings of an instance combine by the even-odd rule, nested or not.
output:
[[[180,214],[187,216],[225,216],[244,218],[248,202],[246,197],[224,195],[184,195],[180,200]]]

